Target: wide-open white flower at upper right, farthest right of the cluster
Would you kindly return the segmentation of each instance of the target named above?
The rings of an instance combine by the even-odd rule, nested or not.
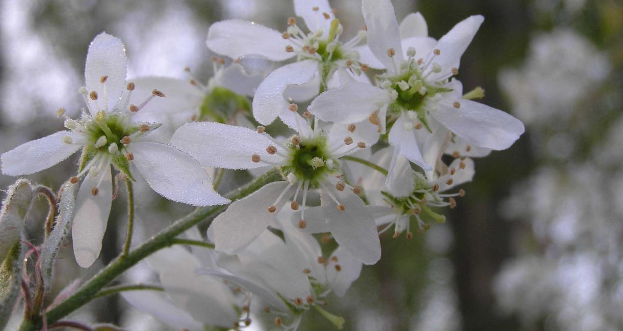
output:
[[[482,23],[482,16],[468,17],[435,42],[422,36],[401,40],[389,0],[364,0],[362,9],[369,49],[387,68],[377,77],[380,87],[349,83],[326,91],[312,102],[310,112],[323,121],[345,124],[376,115],[374,121],[381,132],[386,124],[393,124],[389,143],[424,170],[431,170],[432,165],[424,162],[414,131],[424,128],[432,133],[433,120],[469,144],[487,149],[506,149],[523,133],[523,124],[516,118],[463,99],[460,82],[450,80],[458,72],[460,56]],[[421,16],[412,16],[409,21],[411,26],[426,30]],[[410,45],[404,54],[402,42]],[[426,56],[417,58],[419,54]]]

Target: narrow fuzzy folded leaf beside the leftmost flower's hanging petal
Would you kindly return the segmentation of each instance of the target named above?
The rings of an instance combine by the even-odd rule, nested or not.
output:
[[[56,218],[54,229],[52,229],[47,240],[45,240],[45,246],[41,253],[41,270],[46,290],[49,289],[52,284],[56,255],[72,228],[76,193],[78,192],[79,186],[80,184],[72,184],[69,180],[65,182],[63,192],[60,195],[59,216]]]

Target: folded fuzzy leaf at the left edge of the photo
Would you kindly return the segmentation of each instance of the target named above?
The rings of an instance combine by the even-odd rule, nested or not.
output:
[[[9,186],[0,212],[0,329],[4,329],[19,296],[22,281],[22,230],[33,199],[31,183],[18,179]]]

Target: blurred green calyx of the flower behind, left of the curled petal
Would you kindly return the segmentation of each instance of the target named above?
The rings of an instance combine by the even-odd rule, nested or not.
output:
[[[227,88],[216,86],[204,97],[199,106],[199,121],[231,123],[238,112],[255,123],[251,114],[251,104],[244,95],[234,93]]]

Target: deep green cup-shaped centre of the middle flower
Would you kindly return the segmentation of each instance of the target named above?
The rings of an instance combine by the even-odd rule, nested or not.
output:
[[[292,174],[297,180],[308,180],[310,188],[319,187],[322,179],[338,170],[338,164],[331,159],[326,138],[322,135],[301,139],[297,145],[290,144],[284,164],[281,167],[283,177]]]

